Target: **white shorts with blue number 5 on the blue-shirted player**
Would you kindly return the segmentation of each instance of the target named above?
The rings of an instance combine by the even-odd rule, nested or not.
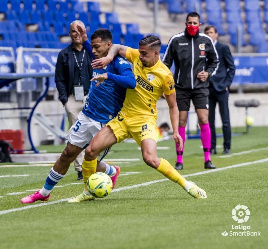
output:
[[[104,127],[105,124],[95,121],[90,117],[86,116],[82,111],[78,113],[76,122],[68,130],[65,138],[73,145],[76,145],[80,148],[88,147],[90,141],[98,131]],[[111,147],[99,153],[97,160],[101,161],[104,158]]]

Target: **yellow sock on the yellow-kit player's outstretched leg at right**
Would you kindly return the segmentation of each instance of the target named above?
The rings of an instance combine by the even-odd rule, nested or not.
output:
[[[165,159],[160,158],[160,164],[156,170],[162,173],[169,180],[172,180],[175,183],[179,183],[183,188],[186,187],[187,180],[182,175],[180,175],[177,170],[174,169],[171,164]]]

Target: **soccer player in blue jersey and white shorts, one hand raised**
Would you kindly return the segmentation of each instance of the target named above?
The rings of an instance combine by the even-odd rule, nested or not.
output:
[[[108,49],[112,45],[112,34],[108,29],[97,29],[91,35],[90,43],[87,40],[85,27],[83,25],[81,27],[78,24],[77,28],[83,30],[80,33],[77,29],[77,37],[79,37],[80,41],[85,41],[82,45],[92,57],[98,59],[108,54]],[[22,198],[21,203],[32,203],[37,200],[47,201],[50,198],[50,192],[59,180],[64,177],[71,162],[88,146],[96,133],[121,110],[126,89],[134,89],[136,86],[136,80],[130,65],[120,55],[114,57],[113,61],[103,69],[94,69],[91,81],[85,106],[78,114],[77,121],[66,135],[68,140],[66,148],[50,170],[43,188]],[[98,161],[102,168],[106,166],[105,173],[110,175],[114,187],[120,168],[118,166],[110,166],[101,161],[109,150],[110,148],[99,153]],[[83,164],[86,163],[87,154],[85,154],[83,160]],[[87,179],[84,177],[85,185]],[[76,202],[75,198],[71,199],[70,202]],[[84,200],[94,199],[93,196],[89,195],[86,188],[85,193],[81,194],[80,198],[84,198]]]

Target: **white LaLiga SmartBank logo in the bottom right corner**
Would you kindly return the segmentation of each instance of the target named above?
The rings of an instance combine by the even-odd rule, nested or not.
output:
[[[237,205],[232,210],[232,218],[237,223],[247,222],[250,217],[250,211],[245,205]],[[222,236],[261,236],[260,231],[251,231],[250,225],[232,225],[228,232],[226,229],[222,232]]]

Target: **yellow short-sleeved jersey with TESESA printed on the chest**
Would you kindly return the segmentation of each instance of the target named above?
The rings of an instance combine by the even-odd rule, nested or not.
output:
[[[137,85],[127,89],[121,113],[130,117],[151,116],[157,119],[156,102],[164,93],[175,91],[171,71],[162,63],[160,57],[154,66],[144,67],[139,59],[138,49],[128,48],[126,58],[133,64],[133,74]]]

